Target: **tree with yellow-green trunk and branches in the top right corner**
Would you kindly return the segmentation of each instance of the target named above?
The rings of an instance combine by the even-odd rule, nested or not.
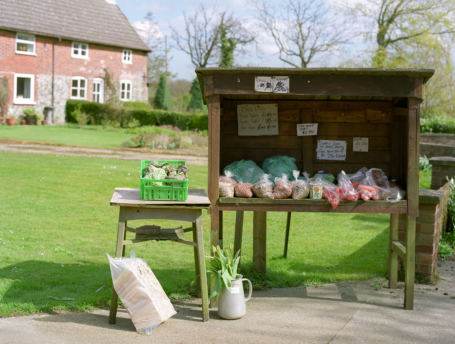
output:
[[[344,10],[352,20],[363,21],[361,30],[375,42],[374,67],[389,66],[390,53],[406,44],[419,46],[425,35],[451,35],[455,32],[453,0],[368,0],[349,5]]]

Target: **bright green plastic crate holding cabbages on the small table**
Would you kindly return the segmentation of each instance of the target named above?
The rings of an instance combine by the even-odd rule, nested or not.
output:
[[[144,170],[152,160],[141,161],[141,199],[153,199],[159,201],[186,201],[188,199],[188,179],[167,180],[167,179],[145,179],[142,178]],[[166,162],[157,160],[157,162]],[[167,160],[172,167],[179,165],[187,166],[184,161]],[[153,185],[155,182],[162,182],[166,185]]]

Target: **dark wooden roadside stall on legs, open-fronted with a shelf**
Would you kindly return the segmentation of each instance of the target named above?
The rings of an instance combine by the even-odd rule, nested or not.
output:
[[[405,261],[404,308],[413,309],[420,103],[425,82],[434,70],[214,67],[197,68],[196,73],[208,106],[212,245],[222,243],[223,211],[237,211],[237,248],[243,211],[253,211],[253,265],[265,273],[269,211],[388,213],[389,287],[396,288],[399,256]],[[277,104],[278,133],[239,135],[237,107],[246,104]],[[299,123],[318,123],[317,135],[297,136]],[[368,138],[368,152],[353,150],[354,137]],[[319,140],[345,141],[344,160],[317,156]],[[354,173],[361,167],[380,168],[389,179],[399,181],[406,197],[396,203],[340,201],[335,209],[325,199],[219,197],[218,176],[229,163],[245,159],[261,167],[265,158],[274,155],[294,157],[298,169],[310,176],[319,170],[337,176],[341,170]],[[398,214],[408,218],[405,247],[398,241]]]

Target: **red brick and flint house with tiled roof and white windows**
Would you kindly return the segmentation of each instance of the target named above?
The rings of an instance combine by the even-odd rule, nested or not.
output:
[[[115,0],[0,0],[8,116],[35,108],[61,124],[68,99],[105,101],[105,69],[121,101],[147,102],[149,51]]]

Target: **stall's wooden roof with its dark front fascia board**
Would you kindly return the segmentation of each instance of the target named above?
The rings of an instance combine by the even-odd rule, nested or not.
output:
[[[387,97],[415,96],[423,94],[415,85],[426,83],[435,73],[434,69],[410,68],[275,68],[275,67],[210,67],[197,68],[196,75],[202,96],[268,95],[271,99],[305,99],[305,96],[334,96],[329,100],[387,100]],[[295,76],[290,78],[288,94],[267,94],[254,91],[254,76]],[[235,76],[238,76],[236,78]],[[240,80],[242,76],[242,80]],[[308,80],[307,80],[308,79]],[[418,80],[416,80],[418,79]]]

